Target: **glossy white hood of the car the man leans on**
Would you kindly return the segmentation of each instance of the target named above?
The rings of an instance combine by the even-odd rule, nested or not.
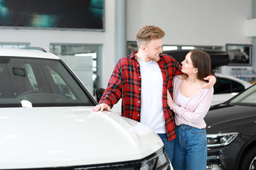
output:
[[[163,147],[142,123],[79,108],[0,108],[0,169],[142,159]]]

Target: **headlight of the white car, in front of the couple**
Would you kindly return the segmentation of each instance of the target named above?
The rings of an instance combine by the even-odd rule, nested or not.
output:
[[[159,149],[154,154],[151,154],[149,157],[146,157],[142,161],[142,166],[140,170],[153,170],[153,169],[171,169],[169,158],[165,150]]]

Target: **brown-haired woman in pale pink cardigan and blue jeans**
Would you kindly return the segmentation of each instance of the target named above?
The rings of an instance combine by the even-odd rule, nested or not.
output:
[[[210,56],[201,50],[191,50],[181,62],[182,75],[174,77],[174,101],[167,94],[168,106],[175,113],[176,139],[174,170],[206,169],[207,137],[203,120],[210,108],[213,87],[203,78],[210,74]]]

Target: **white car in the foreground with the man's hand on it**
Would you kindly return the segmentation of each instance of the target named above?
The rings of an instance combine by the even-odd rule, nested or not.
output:
[[[96,104],[59,57],[0,49],[0,169],[172,169],[155,132]]]

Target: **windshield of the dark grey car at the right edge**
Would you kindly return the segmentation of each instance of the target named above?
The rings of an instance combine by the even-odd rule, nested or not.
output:
[[[256,105],[256,85],[250,87],[230,101],[230,104]]]

